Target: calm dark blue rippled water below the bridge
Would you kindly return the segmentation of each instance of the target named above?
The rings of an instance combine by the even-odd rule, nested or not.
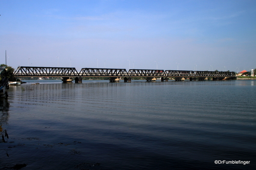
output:
[[[0,101],[1,170],[256,167],[256,81],[37,82]]]

